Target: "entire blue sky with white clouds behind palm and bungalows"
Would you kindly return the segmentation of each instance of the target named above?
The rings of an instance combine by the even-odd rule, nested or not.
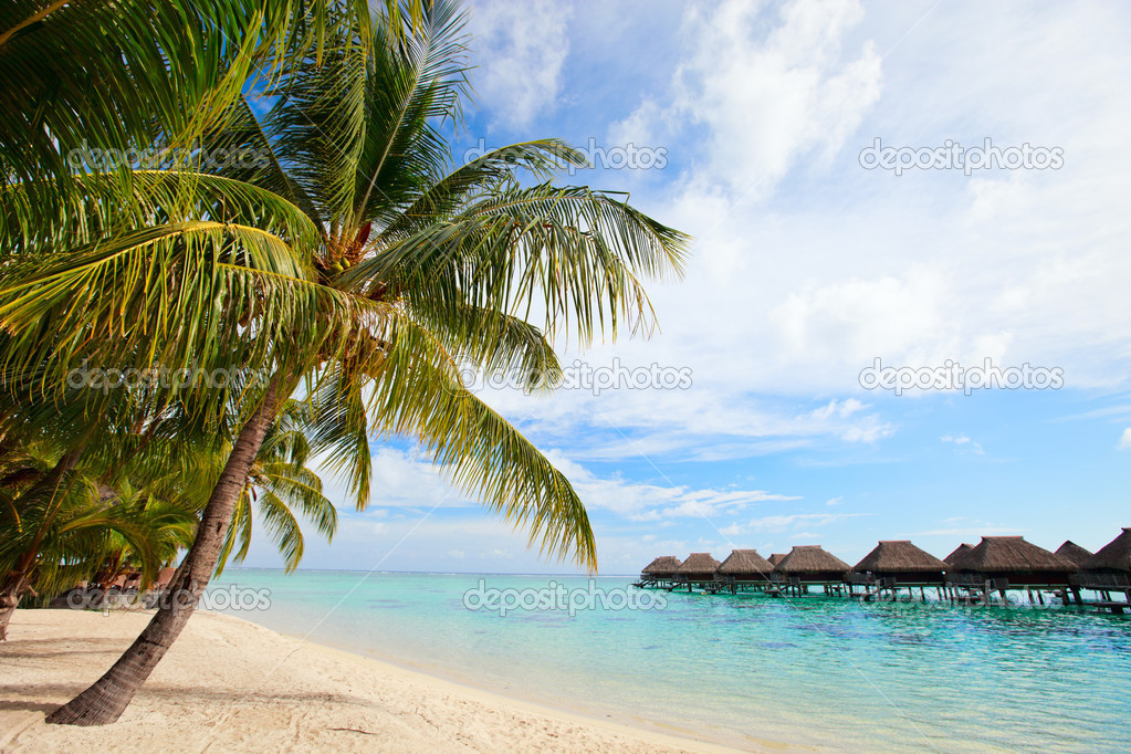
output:
[[[663,167],[579,172],[692,234],[661,332],[563,347],[677,389],[485,390],[573,480],[601,570],[733,547],[979,535],[1095,549],[1131,525],[1131,8],[1117,3],[478,2],[463,148],[560,137]],[[1059,168],[864,170],[991,139]],[[1059,389],[865,390],[875,358],[1057,370]],[[612,373],[612,372],[606,372]],[[622,372],[623,373],[623,372]],[[374,444],[374,497],[303,567],[563,572]],[[330,480],[331,496],[344,499]],[[277,565],[260,541],[249,565]]]

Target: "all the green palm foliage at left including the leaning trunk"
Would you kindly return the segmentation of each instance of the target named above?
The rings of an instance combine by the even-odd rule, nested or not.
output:
[[[642,281],[681,275],[687,237],[623,194],[559,184],[584,156],[554,139],[455,163],[449,140],[463,127],[470,70],[458,3],[248,6],[258,11],[200,32],[213,42],[232,35],[218,46],[161,40],[159,55],[191,60],[179,60],[185,76],[213,67],[190,76],[187,90],[163,84],[138,89],[140,101],[115,102],[111,89],[112,106],[84,105],[69,120],[37,124],[46,136],[24,151],[0,153],[9,176],[0,367],[12,405],[64,406],[79,418],[53,473],[61,478],[88,453],[121,450],[104,439],[123,426],[143,442],[159,427],[182,448],[222,439],[223,462],[170,584],[196,598],[225,556],[247,552],[249,479],[275,462],[262,458],[265,447],[318,458],[364,509],[370,443],[412,439],[544,555],[595,569],[577,492],[467,389],[460,369],[512,370],[529,391],[553,389],[555,343],[651,331]],[[44,10],[0,33],[0,61],[27,29],[63,26],[67,9]],[[116,49],[121,60],[107,67],[121,78],[111,81],[127,86],[143,75],[131,54]],[[164,99],[148,102],[150,89]],[[58,101],[41,94],[51,110]],[[145,114],[123,119],[128,128],[106,125],[115,109],[135,106]],[[78,148],[84,119],[96,121],[100,148],[156,142],[163,157],[144,168],[68,163],[61,153]],[[67,138],[53,138],[57,130]],[[36,150],[55,153],[45,171]],[[206,153],[250,158],[221,164]],[[51,181],[61,189],[45,188]],[[225,379],[191,389],[162,380],[96,387],[74,379],[89,364],[102,374],[161,367]],[[302,445],[278,439],[292,401],[310,425]],[[305,486],[287,478],[280,494],[260,485],[267,492],[257,502],[270,510],[292,496],[325,534],[331,506]],[[285,517],[271,515],[267,526],[295,541]],[[162,606],[122,658],[49,721],[116,720],[195,604]]]

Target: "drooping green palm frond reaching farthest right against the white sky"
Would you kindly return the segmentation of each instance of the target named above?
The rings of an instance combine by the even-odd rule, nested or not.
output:
[[[364,295],[404,292],[455,305],[544,315],[549,333],[649,332],[640,277],[680,276],[688,237],[612,196],[551,184],[500,188],[394,241],[344,276]]]

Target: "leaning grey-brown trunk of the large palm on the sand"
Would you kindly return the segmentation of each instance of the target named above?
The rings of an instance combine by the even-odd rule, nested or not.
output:
[[[145,679],[184,629],[216,567],[224,532],[232,520],[248,471],[278,408],[278,381],[273,380],[262,404],[240,431],[208,505],[200,515],[197,537],[170,584],[157,614],[114,666],[93,686],[48,716],[57,725],[100,726],[114,722]]]

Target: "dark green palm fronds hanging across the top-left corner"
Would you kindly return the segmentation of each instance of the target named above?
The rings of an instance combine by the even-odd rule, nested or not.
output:
[[[421,1],[386,9],[417,19]],[[351,9],[366,0],[6,0],[0,175],[58,206],[81,196],[79,154],[187,147],[249,77],[318,54],[331,11]],[[128,165],[115,173],[128,183]]]

